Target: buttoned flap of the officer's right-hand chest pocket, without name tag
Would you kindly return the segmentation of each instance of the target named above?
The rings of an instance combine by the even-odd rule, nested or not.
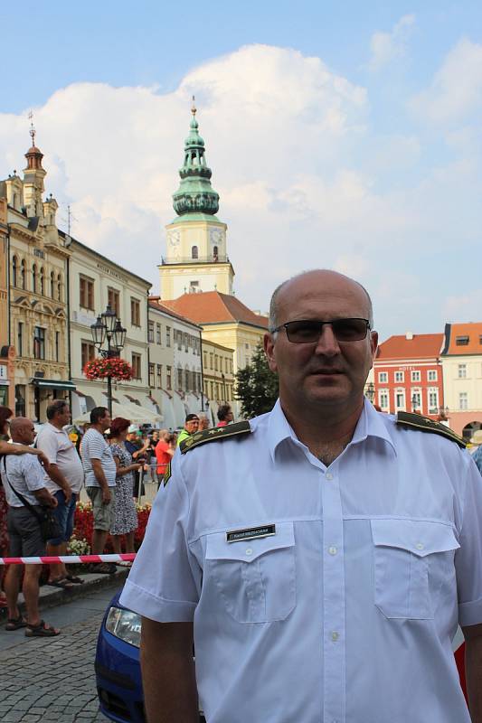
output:
[[[408,549],[420,558],[460,547],[453,529],[441,522],[385,519],[371,525],[374,545]]]

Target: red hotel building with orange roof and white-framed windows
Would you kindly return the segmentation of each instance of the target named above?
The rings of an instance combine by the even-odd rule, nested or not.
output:
[[[443,338],[443,333],[406,333],[380,344],[373,363],[374,402],[383,412],[439,417],[444,409]]]

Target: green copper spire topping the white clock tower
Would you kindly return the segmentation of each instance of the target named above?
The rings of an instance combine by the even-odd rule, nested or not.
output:
[[[178,216],[189,213],[213,216],[219,209],[219,194],[211,185],[212,171],[206,164],[204,141],[199,135],[194,96],[191,113],[189,136],[184,142],[184,164],[179,169],[181,183],[173,195],[173,205]]]

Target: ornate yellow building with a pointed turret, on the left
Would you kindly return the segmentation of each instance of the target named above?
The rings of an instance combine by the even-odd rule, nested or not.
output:
[[[69,379],[67,268],[70,251],[57,230],[57,202],[43,201],[43,153],[25,157],[24,178],[15,172],[0,183],[7,200],[9,331],[16,352],[14,406],[17,415],[45,421],[49,401],[65,397]]]

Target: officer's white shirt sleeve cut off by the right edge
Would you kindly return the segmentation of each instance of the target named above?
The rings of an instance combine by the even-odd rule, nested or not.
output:
[[[482,476],[471,458],[458,541],[458,622],[463,627],[482,623]]]

